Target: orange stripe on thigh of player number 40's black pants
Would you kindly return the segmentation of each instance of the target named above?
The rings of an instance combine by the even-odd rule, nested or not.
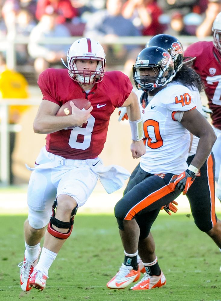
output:
[[[173,183],[169,183],[166,186],[163,186],[157,191],[154,191],[153,193],[149,194],[147,197],[145,197],[143,200],[141,200],[137,205],[135,205],[126,215],[124,218],[125,220],[131,220],[134,218],[135,214],[137,214],[142,209],[150,206],[152,203],[156,202],[157,200],[161,199],[165,195],[172,192]]]

